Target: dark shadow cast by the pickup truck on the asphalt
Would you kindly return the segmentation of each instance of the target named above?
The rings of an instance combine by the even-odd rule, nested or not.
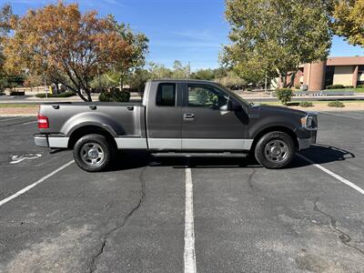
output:
[[[299,154],[308,157],[317,164],[335,161],[343,161],[355,158],[349,151],[338,147],[314,145]],[[310,162],[295,157],[287,168],[306,167]],[[109,171],[126,170],[139,167],[174,167],[174,168],[237,168],[237,167],[261,167],[253,157],[153,157],[145,151],[121,151],[116,155],[114,164]]]

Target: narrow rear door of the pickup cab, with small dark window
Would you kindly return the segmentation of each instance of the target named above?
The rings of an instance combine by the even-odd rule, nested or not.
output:
[[[152,82],[147,102],[147,141],[150,149],[182,147],[182,91],[177,83]]]

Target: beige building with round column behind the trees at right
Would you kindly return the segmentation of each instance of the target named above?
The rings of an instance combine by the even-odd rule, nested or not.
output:
[[[331,85],[364,85],[364,56],[329,57],[324,62],[302,65],[295,78],[295,86],[302,85],[307,86],[309,91]]]

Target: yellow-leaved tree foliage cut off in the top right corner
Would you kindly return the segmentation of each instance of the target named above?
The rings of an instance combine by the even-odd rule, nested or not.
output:
[[[333,12],[333,30],[349,44],[364,47],[364,0],[339,0]]]

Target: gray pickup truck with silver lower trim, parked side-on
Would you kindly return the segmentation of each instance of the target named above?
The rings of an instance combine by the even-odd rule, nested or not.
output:
[[[295,152],[316,143],[315,114],[254,106],[209,81],[147,82],[142,103],[51,103],[40,106],[39,147],[73,149],[86,171],[105,169],[116,149],[159,157],[256,157],[287,167]]]

